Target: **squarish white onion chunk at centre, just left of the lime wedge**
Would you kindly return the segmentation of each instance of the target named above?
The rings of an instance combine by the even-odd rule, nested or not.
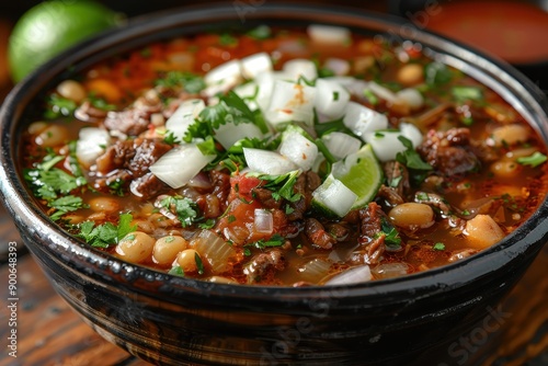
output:
[[[316,157],[318,147],[298,131],[284,133],[279,153],[293,161],[304,171],[310,170]]]

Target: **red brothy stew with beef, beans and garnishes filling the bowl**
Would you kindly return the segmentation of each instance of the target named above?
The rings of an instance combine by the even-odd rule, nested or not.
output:
[[[30,190],[61,228],[128,262],[204,281],[283,286],[375,281],[460,261],[511,233],[543,202],[546,148],[493,91],[425,57],[418,44],[345,32],[311,39],[310,32],[259,27],[176,38],[61,82],[22,145]],[[254,69],[210,82],[217,67],[259,53],[272,62],[259,73],[282,80],[275,87]],[[287,61],[295,59],[301,66],[292,77]],[[281,85],[299,92],[274,111]],[[271,92],[262,104],[260,88]],[[318,95],[329,88],[327,108]],[[191,127],[178,125],[185,131],[175,136],[167,126],[190,100],[205,107],[191,111]],[[351,103],[361,124],[350,117]],[[282,114],[288,121],[279,123]],[[227,124],[235,129],[225,137],[242,125],[261,138],[232,150],[220,141]],[[333,131],[346,136],[342,152],[330,142],[334,135],[327,137]],[[289,136],[308,149],[286,142],[299,155],[287,163],[295,169],[274,172],[271,158],[260,160],[263,172],[247,167],[251,150],[241,146],[285,163]],[[379,144],[388,136],[392,142]],[[180,152],[192,148],[213,160],[192,179],[169,183],[194,164]],[[170,151],[179,156],[158,168]],[[313,163],[302,168],[308,151]],[[357,185],[341,173],[351,160]],[[330,174],[344,187],[322,201],[318,190],[330,186]]]

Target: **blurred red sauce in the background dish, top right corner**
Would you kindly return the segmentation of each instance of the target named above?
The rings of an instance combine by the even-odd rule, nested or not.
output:
[[[512,64],[548,61],[548,12],[517,1],[441,2],[420,26]]]

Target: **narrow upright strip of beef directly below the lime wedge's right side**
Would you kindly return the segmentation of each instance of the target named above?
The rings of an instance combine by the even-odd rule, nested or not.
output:
[[[357,255],[352,256],[354,263],[376,264],[379,262],[386,250],[383,218],[388,219],[383,208],[375,202],[359,209],[359,248],[357,253],[355,252]]]

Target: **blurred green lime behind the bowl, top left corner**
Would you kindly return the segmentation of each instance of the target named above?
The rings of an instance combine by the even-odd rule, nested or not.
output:
[[[119,24],[123,16],[94,1],[45,1],[25,12],[9,39],[8,60],[18,82],[80,41]]]

